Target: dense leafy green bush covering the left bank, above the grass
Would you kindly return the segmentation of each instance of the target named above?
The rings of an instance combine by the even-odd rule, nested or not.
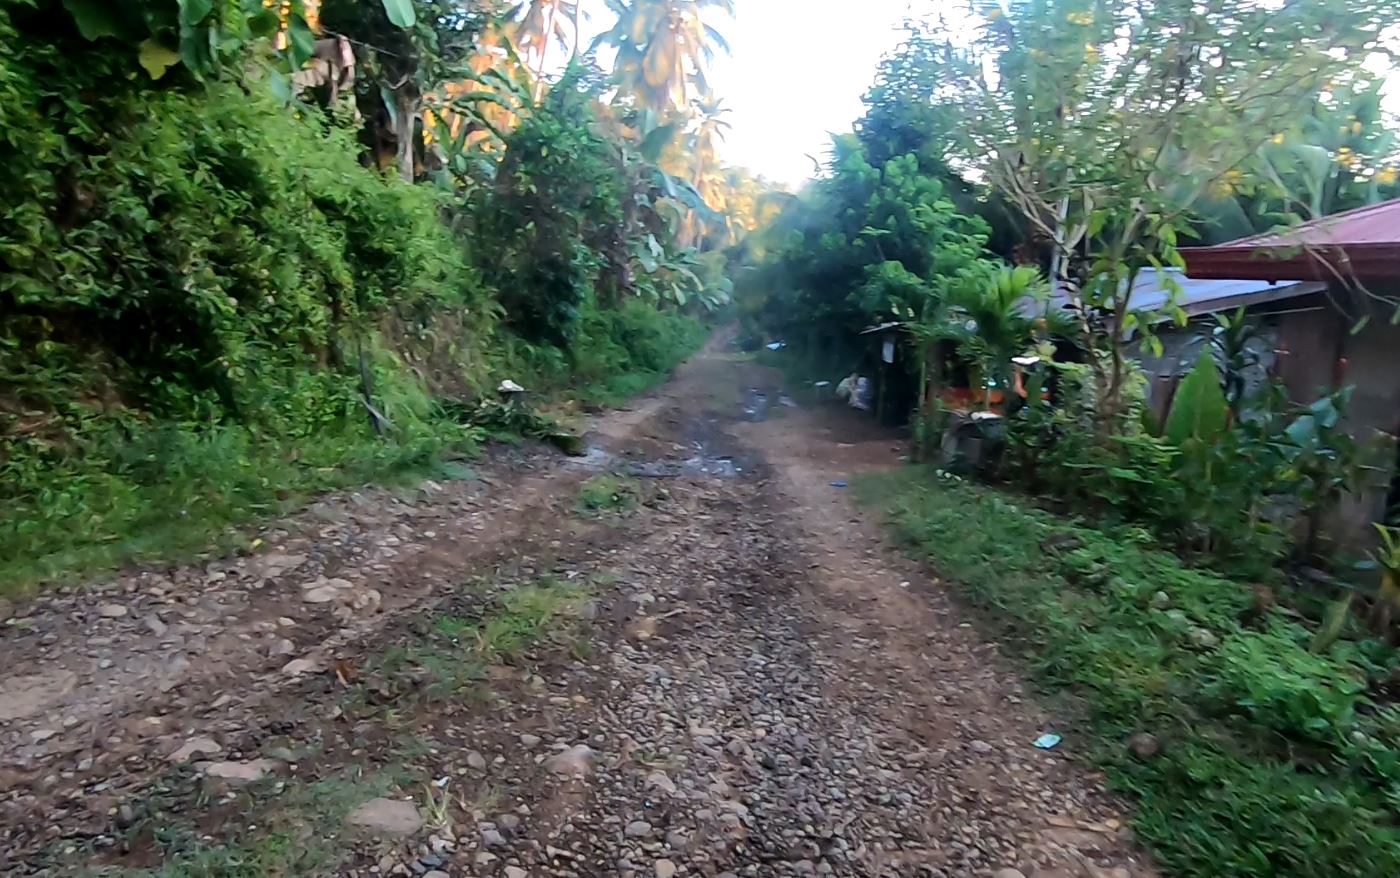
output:
[[[452,308],[468,337],[490,332],[433,193],[367,172],[346,132],[232,84],[112,90],[102,53],[34,55],[32,91],[6,102],[45,119],[31,134],[49,148],[0,167],[8,406],[101,386],[176,420],[319,428],[358,417],[357,368],[339,367],[389,311],[421,325]]]

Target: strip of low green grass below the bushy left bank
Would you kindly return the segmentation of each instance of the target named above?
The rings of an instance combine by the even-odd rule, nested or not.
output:
[[[316,496],[371,483],[454,478],[479,435],[374,443],[253,441],[242,430],[167,430],[119,448],[111,472],[57,466],[50,485],[6,503],[0,595],[28,595],[134,563],[227,556],[252,546],[252,525]],[[116,452],[113,452],[116,454]]]

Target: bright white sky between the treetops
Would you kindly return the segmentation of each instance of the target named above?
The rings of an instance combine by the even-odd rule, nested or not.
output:
[[[881,57],[900,41],[910,0],[735,0],[735,18],[711,17],[729,42],[710,87],[729,108],[734,126],[725,160],[790,186],[813,175],[829,132],[848,132],[864,111]],[[914,0],[930,8],[928,0]],[[589,0],[585,29],[612,27],[602,3]]]

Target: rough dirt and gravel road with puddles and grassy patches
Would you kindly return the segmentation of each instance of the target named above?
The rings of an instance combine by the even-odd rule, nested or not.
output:
[[[592,438],[22,608],[0,874],[1154,874],[833,486],[897,437],[711,349]]]

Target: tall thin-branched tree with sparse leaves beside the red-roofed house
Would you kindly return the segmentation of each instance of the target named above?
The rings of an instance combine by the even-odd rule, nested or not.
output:
[[[1018,0],[938,39],[932,92],[960,160],[1021,213],[1079,300],[1102,423],[1116,419],[1135,273],[1179,265],[1197,204],[1296,120],[1362,77],[1397,0]],[[1182,318],[1180,308],[1168,312]],[[1106,319],[1098,321],[1098,315]]]

